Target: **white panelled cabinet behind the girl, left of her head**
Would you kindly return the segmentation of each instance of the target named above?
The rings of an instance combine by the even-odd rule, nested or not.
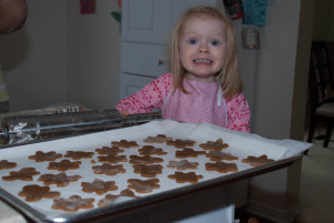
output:
[[[167,42],[179,14],[219,0],[122,0],[120,99],[168,72]]]

